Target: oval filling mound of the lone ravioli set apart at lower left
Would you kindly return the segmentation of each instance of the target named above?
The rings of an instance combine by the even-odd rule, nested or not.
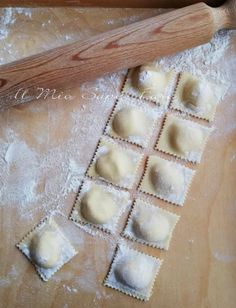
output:
[[[43,268],[53,268],[60,260],[60,240],[53,231],[35,234],[30,243],[30,254],[34,262]]]

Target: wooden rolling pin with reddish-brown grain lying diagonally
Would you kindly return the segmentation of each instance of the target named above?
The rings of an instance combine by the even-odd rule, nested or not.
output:
[[[236,0],[197,3],[0,67],[0,110],[35,98],[37,88],[65,88],[208,42],[236,27]],[[18,99],[23,89],[28,95]]]

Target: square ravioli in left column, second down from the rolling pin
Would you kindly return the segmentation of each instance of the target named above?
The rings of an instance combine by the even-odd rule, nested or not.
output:
[[[155,124],[163,112],[130,96],[120,96],[105,133],[111,137],[147,147]]]

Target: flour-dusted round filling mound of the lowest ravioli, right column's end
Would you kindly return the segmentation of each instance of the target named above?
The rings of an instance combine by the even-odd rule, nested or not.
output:
[[[136,290],[147,288],[153,278],[153,266],[144,255],[138,254],[135,258],[124,257],[115,267],[118,281]]]

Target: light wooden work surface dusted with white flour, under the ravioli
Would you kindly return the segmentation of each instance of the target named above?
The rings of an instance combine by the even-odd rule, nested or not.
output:
[[[0,62],[155,14],[155,10],[122,9],[1,11]],[[206,75],[229,87],[217,108],[213,123],[216,129],[196,169],[184,207],[151,199],[181,215],[170,250],[159,251],[127,241],[130,247],[164,259],[147,303],[102,285],[113,258],[116,237],[96,231],[88,234],[68,220],[80,181],[126,72],[68,89],[64,93],[71,95],[67,101],[63,95],[59,98],[60,93],[47,99],[42,94],[41,100],[33,104],[0,114],[3,307],[235,306],[235,53],[235,36],[221,35],[211,44],[187,51],[177,59],[160,61],[161,65]],[[44,283],[15,244],[53,209],[57,209],[56,222],[78,255]],[[119,232],[125,221],[124,215]]]

